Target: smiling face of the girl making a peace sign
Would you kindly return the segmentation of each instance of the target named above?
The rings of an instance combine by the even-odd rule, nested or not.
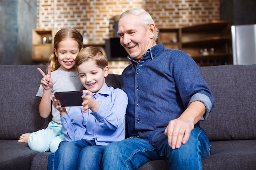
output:
[[[75,72],[75,58],[79,52],[79,44],[76,40],[66,39],[58,43],[58,48],[54,49],[61,68],[68,72]]]

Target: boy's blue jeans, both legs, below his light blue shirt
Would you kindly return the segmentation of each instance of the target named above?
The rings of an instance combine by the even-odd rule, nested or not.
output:
[[[105,148],[96,145],[94,140],[62,141],[48,157],[48,170],[100,170]]]

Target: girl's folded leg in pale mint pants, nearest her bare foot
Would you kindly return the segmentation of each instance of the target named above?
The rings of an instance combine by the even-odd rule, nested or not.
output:
[[[46,129],[31,133],[28,145],[31,150],[45,152],[49,150],[52,140],[62,135],[62,126],[51,121]]]

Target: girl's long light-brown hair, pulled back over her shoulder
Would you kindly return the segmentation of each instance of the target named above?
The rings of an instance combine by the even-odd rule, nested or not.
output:
[[[78,43],[79,51],[83,48],[83,36],[74,28],[64,28],[59,30],[54,36],[54,48],[58,49],[58,43],[66,40],[67,38],[75,40]],[[49,57],[48,65],[51,66],[51,71],[55,71],[61,66],[54,51]]]

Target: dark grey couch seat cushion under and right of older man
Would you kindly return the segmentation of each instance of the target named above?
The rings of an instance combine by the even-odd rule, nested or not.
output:
[[[202,158],[203,170],[255,170],[256,140],[213,141],[211,155]],[[169,170],[167,161],[149,161],[138,170]]]

